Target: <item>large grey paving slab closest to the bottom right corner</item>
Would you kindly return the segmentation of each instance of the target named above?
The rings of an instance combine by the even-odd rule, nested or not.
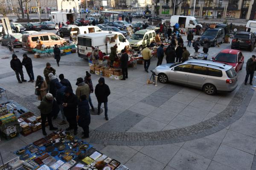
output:
[[[213,160],[236,170],[250,170],[253,155],[221,144]]]

